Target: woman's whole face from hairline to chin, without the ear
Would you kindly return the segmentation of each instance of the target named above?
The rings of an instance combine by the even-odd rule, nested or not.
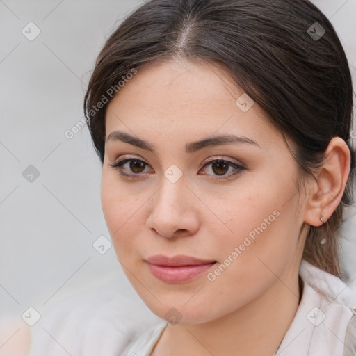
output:
[[[147,306],[180,323],[298,278],[297,163],[228,78],[216,65],[153,63],[106,111],[102,207],[115,252]]]

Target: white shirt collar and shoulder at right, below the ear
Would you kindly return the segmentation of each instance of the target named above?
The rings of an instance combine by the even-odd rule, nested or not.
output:
[[[300,277],[302,299],[278,355],[355,356],[355,291],[305,260]]]

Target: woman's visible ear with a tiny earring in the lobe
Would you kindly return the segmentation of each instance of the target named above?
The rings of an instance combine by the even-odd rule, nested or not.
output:
[[[332,216],[345,191],[350,174],[350,149],[340,137],[330,140],[316,180],[310,181],[305,223],[320,226]],[[321,221],[323,218],[323,221]]]

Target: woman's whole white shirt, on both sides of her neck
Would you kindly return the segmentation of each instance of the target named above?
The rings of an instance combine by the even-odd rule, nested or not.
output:
[[[300,277],[302,299],[276,355],[356,356],[355,293],[338,277],[304,260]],[[35,336],[30,355],[149,356],[167,325],[145,308],[123,307],[122,296],[106,296],[91,316],[93,302],[77,304],[70,305],[71,313],[63,315],[62,307],[49,318],[42,334]]]

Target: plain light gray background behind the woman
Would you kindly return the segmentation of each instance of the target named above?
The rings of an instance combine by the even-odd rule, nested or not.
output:
[[[0,316],[20,320],[30,306],[46,314],[68,296],[113,281],[134,294],[113,248],[99,254],[92,246],[109,234],[88,129],[72,139],[65,131],[83,118],[86,83],[105,38],[140,2],[0,0]],[[356,0],[314,3],[339,33],[355,85]],[[22,34],[29,22],[41,31],[33,41]],[[29,165],[40,172],[32,182],[22,175]],[[350,280],[355,221],[343,228]]]

